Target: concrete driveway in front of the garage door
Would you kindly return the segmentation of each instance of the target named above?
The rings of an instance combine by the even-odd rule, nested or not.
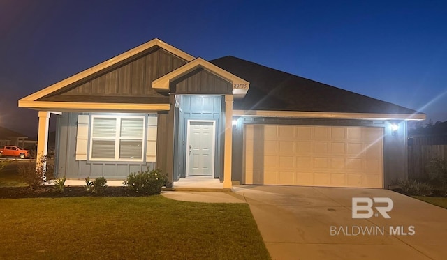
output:
[[[241,185],[233,191],[247,200],[272,259],[447,259],[447,210],[390,190]],[[369,219],[353,219],[353,197],[389,197],[390,218],[374,210]],[[400,234],[391,235],[390,227]]]

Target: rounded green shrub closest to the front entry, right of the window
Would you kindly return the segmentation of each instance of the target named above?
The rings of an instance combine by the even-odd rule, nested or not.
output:
[[[123,184],[133,192],[160,194],[161,187],[166,185],[166,181],[168,181],[167,174],[162,173],[159,169],[151,171],[148,167],[147,171],[129,174]]]

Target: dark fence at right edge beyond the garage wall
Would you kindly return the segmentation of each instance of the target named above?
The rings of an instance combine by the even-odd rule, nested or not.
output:
[[[447,160],[447,136],[411,137],[408,142],[409,178],[427,177],[427,166],[433,158]]]

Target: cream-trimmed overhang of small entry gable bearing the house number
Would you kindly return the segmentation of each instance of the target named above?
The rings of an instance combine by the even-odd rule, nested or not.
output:
[[[184,66],[177,68],[177,70],[173,70],[163,77],[155,79],[152,82],[152,88],[159,91],[168,92],[170,90],[169,87],[171,82],[198,68],[203,68],[204,70],[207,70],[208,72],[211,72],[214,75],[217,75],[218,77],[230,82],[233,86],[233,95],[235,98],[243,98],[245,94],[247,94],[247,91],[249,91],[250,83],[247,82],[247,80],[241,79],[240,77],[237,77],[236,75],[233,75],[230,72],[223,70],[223,68],[215,66],[202,58],[196,58],[193,61],[186,63]]]

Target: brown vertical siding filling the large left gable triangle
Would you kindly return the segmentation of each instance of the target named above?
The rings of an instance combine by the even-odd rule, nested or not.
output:
[[[186,63],[174,54],[161,48],[152,49],[132,60],[123,61],[110,70],[101,71],[75,82],[59,91],[55,91],[41,101],[69,101],[69,102],[146,102],[147,98],[166,101],[165,95],[152,89],[152,81],[171,72]],[[103,99],[103,95],[106,95]],[[98,98],[101,96],[101,98]],[[112,98],[113,97],[113,98]],[[154,103],[154,102],[153,102]]]

